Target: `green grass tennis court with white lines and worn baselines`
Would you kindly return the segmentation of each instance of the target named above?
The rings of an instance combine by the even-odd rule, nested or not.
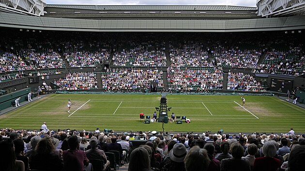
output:
[[[71,99],[75,105],[67,112]],[[160,95],[52,94],[0,116],[0,128],[39,129],[44,121],[51,130],[162,131],[162,123],[144,124],[139,114],[151,115]],[[165,131],[305,132],[305,109],[271,96],[168,95],[170,114],[186,116],[191,123],[164,124]],[[168,116],[170,117],[170,114]]]

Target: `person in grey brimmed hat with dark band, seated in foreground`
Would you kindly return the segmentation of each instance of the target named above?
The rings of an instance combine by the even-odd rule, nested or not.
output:
[[[169,152],[169,160],[162,167],[161,171],[185,171],[184,158],[187,154],[186,148],[182,143],[176,143]]]

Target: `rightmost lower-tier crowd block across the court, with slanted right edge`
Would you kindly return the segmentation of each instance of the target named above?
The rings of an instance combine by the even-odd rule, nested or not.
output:
[[[265,92],[266,89],[253,75],[242,72],[228,72],[228,90]]]

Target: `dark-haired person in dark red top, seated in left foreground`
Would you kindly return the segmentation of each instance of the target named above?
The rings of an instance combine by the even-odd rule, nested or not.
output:
[[[62,154],[64,171],[91,171],[92,164],[89,163],[86,153],[78,150],[79,142],[77,136],[68,139],[70,149]]]

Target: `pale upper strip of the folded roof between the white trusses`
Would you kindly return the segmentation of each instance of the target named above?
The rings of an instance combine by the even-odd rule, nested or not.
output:
[[[211,11],[257,11],[256,7],[229,5],[52,5],[46,8],[86,9],[86,10],[211,10]]]

